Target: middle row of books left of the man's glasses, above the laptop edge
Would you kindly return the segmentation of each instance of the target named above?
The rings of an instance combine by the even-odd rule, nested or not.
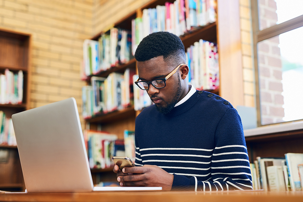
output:
[[[91,86],[82,87],[82,115],[85,119],[133,104],[133,75],[127,68],[123,73],[112,72],[107,78],[91,77]]]

